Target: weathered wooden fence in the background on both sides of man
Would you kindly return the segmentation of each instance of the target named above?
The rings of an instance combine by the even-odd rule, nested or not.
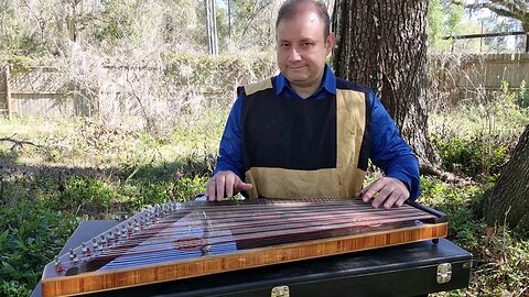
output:
[[[272,70],[269,67],[261,76],[271,75]],[[236,85],[261,78],[245,76],[242,72],[246,74],[248,69],[240,69],[238,74],[212,73],[208,75],[223,76],[223,79],[201,78],[190,86],[182,81],[190,80],[186,75],[165,79],[161,69],[108,67],[102,75],[93,77],[90,84],[86,84],[56,67],[6,66],[0,73],[0,110],[9,117],[91,117],[102,112],[139,114],[141,106],[156,101],[160,94],[179,99],[195,95],[214,100],[233,98]],[[501,81],[510,88],[519,88],[522,81],[529,84],[529,54],[432,57],[429,81],[431,91],[449,92],[451,103],[474,97],[478,89],[499,90]],[[151,86],[145,87],[149,84]],[[197,85],[202,87],[196,89]]]

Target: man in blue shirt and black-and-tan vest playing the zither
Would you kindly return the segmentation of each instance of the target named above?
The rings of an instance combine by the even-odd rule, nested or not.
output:
[[[288,0],[276,30],[281,73],[239,88],[208,199],[359,196],[375,208],[417,199],[417,157],[380,101],[325,64],[335,41],[325,4]],[[368,158],[385,176],[363,188]]]

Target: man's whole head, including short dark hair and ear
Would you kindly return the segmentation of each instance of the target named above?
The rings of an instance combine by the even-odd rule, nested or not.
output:
[[[315,91],[334,46],[325,4],[317,0],[287,0],[279,10],[276,38],[278,66],[292,88],[298,94]]]

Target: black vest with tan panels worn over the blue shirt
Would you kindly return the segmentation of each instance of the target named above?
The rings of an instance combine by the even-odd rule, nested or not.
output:
[[[367,89],[337,79],[336,96],[277,96],[276,78],[239,88],[250,198],[349,198],[361,189],[369,156]]]

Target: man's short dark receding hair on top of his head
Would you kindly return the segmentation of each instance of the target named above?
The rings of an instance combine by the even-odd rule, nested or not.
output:
[[[276,31],[278,30],[279,23],[284,19],[292,19],[299,12],[299,8],[302,4],[312,4],[314,12],[316,12],[320,20],[324,23],[324,37],[326,38],[331,34],[331,18],[328,16],[327,6],[320,0],[287,0],[281,4],[281,8],[278,12],[278,19],[276,20]]]

